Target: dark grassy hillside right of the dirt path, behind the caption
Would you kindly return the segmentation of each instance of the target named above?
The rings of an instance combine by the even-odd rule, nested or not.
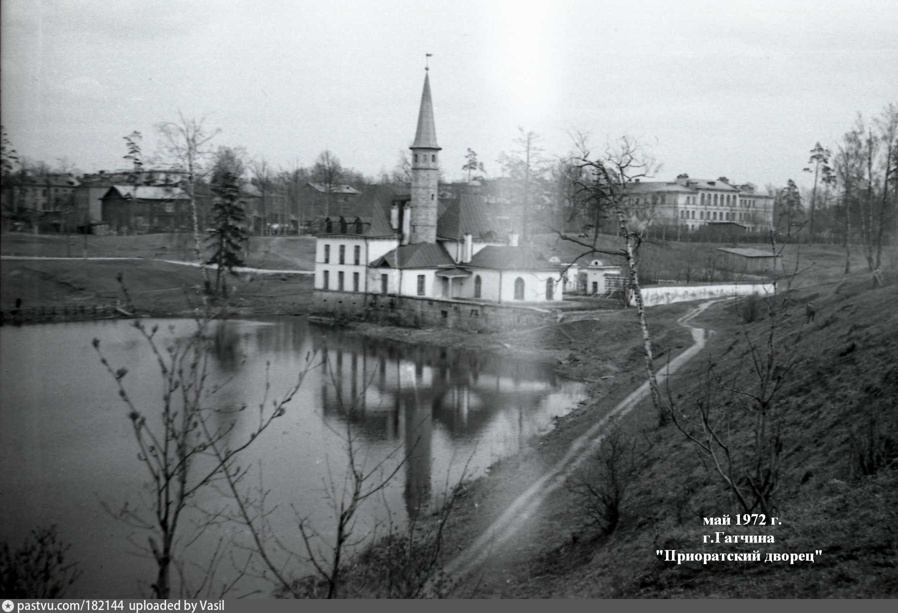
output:
[[[866,279],[815,284],[788,296],[774,333],[784,383],[770,412],[779,415],[782,449],[774,496],[782,525],[709,528],[702,517],[735,516],[740,509],[713,466],[673,425],[657,428],[651,408],[621,425],[647,453],[629,482],[621,522],[611,534],[594,525],[584,500],[559,490],[527,537],[528,554],[502,558],[506,572],[481,585],[482,594],[534,597],[895,597],[898,595],[898,287],[870,289]],[[817,308],[806,323],[805,304]],[[753,449],[756,413],[744,396],[753,390],[751,352],[770,319],[744,324],[742,306],[712,307],[700,320],[718,333],[708,353],[670,386],[676,410],[691,413],[707,400],[709,360],[725,378],[712,385],[717,419],[728,414],[726,438],[738,461]],[[783,374],[785,372],[785,374]],[[712,380],[713,381],[713,380]],[[688,426],[698,432],[698,426]],[[725,431],[722,431],[726,434]],[[723,435],[722,434],[722,435]],[[875,458],[876,461],[871,461]],[[592,461],[593,469],[598,460]],[[875,466],[874,466],[875,465]],[[587,468],[584,469],[584,471]],[[581,472],[578,478],[589,474]],[[736,478],[743,480],[742,471]],[[711,545],[702,535],[768,534],[774,545]],[[522,545],[522,548],[524,546]],[[664,562],[656,549],[685,552],[806,553],[815,562]]]

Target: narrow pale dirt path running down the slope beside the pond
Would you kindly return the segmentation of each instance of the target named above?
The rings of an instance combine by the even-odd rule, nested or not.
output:
[[[705,346],[705,342],[711,330],[691,324],[691,320],[707,309],[710,305],[722,302],[729,298],[709,300],[692,308],[682,315],[677,323],[690,329],[692,344],[686,350],[671,360],[664,369],[657,373],[658,384],[664,385],[668,375],[672,375],[682,368],[689,360],[695,357]],[[514,502],[511,502],[488,529],[484,530],[470,546],[457,555],[445,566],[445,573],[455,577],[463,584],[465,579],[477,575],[484,570],[485,563],[491,557],[506,555],[508,552],[503,546],[509,543],[509,539],[518,534],[531,518],[538,517],[538,511],[543,502],[561,487],[565,480],[578,466],[589,458],[594,449],[597,449],[607,435],[607,426],[612,420],[620,419],[630,413],[649,394],[648,381],[639,386],[635,391],[624,398],[621,403],[607,413],[598,422],[595,422],[583,435],[574,440],[568,452],[554,466],[551,466],[539,479],[527,490],[520,494]]]

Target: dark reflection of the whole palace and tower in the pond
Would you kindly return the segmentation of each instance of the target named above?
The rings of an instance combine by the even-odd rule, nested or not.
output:
[[[409,517],[431,495],[435,429],[451,440],[471,440],[500,422],[500,436],[520,447],[536,431],[528,414],[559,389],[547,364],[341,332],[324,333],[315,343],[327,356],[328,374],[321,378],[324,418],[343,428],[349,423],[354,435],[368,442],[402,446],[397,461],[408,458]]]

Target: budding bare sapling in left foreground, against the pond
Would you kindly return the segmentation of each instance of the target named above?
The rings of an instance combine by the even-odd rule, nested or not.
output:
[[[128,297],[127,290],[125,294]],[[266,386],[256,425],[244,440],[234,442],[237,418],[248,407],[241,407],[230,420],[222,419],[223,415],[227,416],[226,411],[216,410],[216,393],[226,382],[209,381],[208,361],[213,350],[208,325],[214,315],[198,318],[193,333],[174,339],[161,338],[158,325],[147,327],[141,320],[135,320],[134,328],[147,351],[154,355],[163,383],[160,403],[155,407],[136,404],[124,384],[128,369],[115,369],[102,352],[100,340],[93,339],[101,364],[115,381],[125,404],[138,449],[137,459],[145,470],[152,494],[148,513],[139,509],[107,511],[149,533],[146,546],[133,544],[153,556],[155,598],[167,599],[172,595],[172,568],[179,567],[182,553],[177,546],[178,536],[183,531],[184,511],[193,496],[236,470],[238,455],[286,413],[286,406],[302,385],[305,374],[301,371],[286,395],[270,404]]]

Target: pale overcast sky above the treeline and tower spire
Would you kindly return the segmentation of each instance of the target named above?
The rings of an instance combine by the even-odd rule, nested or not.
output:
[[[178,111],[276,167],[391,170],[425,53],[442,164],[489,175],[518,126],[547,155],[627,133],[678,173],[788,178],[856,113],[898,102],[898,1],[4,0],[2,121],[20,154],[124,167]]]

